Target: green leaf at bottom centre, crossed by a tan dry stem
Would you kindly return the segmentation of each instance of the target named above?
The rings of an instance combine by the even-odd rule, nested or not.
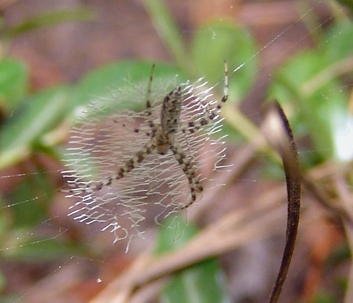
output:
[[[156,252],[181,247],[197,233],[197,228],[175,217],[164,223],[158,233]],[[174,275],[161,296],[164,303],[218,303],[228,301],[224,274],[217,259],[192,265]]]

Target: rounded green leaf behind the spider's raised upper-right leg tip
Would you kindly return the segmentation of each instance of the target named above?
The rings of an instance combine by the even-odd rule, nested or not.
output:
[[[205,75],[211,83],[223,79],[223,62],[227,60],[232,98],[240,99],[253,84],[257,70],[256,46],[253,37],[243,28],[227,22],[208,23],[196,31],[191,54],[199,74]],[[237,70],[233,73],[234,68]],[[223,85],[221,87],[223,89]]]

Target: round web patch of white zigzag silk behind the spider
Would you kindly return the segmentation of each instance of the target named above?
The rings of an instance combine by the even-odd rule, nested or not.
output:
[[[212,170],[218,170],[225,157],[225,136],[214,136],[222,129],[223,119],[216,108],[219,101],[213,98],[213,87],[203,78],[180,86],[182,107],[175,142],[197,168],[201,184],[206,185],[205,167],[212,163]],[[151,221],[152,217],[160,224],[191,199],[188,180],[171,150],[164,155],[150,153],[123,178],[113,180],[100,190],[85,191],[113,176],[151,140],[146,135],[150,132],[146,110],[114,110],[123,100],[144,104],[146,91],[147,85],[131,84],[131,89],[118,91],[110,99],[89,103],[70,131],[65,152],[67,169],[63,177],[70,189],[64,191],[68,192],[66,197],[74,199],[69,215],[85,224],[97,224],[102,231],[110,231],[115,236],[114,242],[142,236],[146,218]],[[151,92],[154,123],[160,123],[162,101],[168,92],[162,87]],[[201,121],[210,114],[214,118],[199,129],[187,132],[182,127],[185,122]],[[215,185],[216,180],[208,179],[205,190]],[[202,194],[198,194],[197,200],[201,198]]]

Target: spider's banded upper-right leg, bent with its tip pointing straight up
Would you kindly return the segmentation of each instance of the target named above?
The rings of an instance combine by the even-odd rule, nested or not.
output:
[[[214,118],[218,116],[218,112],[221,110],[222,106],[228,100],[228,86],[229,86],[229,77],[228,77],[228,64],[227,61],[224,61],[224,88],[223,88],[223,97],[221,102],[218,103],[215,110],[212,112],[209,111],[205,114],[204,118],[196,122],[184,122],[180,124],[181,131],[185,134],[193,134],[202,126],[205,126],[212,122]]]

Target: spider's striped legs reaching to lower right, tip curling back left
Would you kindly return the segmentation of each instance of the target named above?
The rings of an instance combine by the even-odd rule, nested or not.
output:
[[[172,150],[175,158],[177,159],[181,169],[183,170],[184,174],[186,175],[189,181],[189,187],[191,192],[191,201],[188,204],[185,204],[181,209],[189,207],[195,200],[196,200],[196,192],[202,192],[204,190],[203,186],[200,185],[198,176],[196,176],[196,169],[191,164],[190,160],[186,157],[184,151],[181,147],[172,145],[170,147]]]

